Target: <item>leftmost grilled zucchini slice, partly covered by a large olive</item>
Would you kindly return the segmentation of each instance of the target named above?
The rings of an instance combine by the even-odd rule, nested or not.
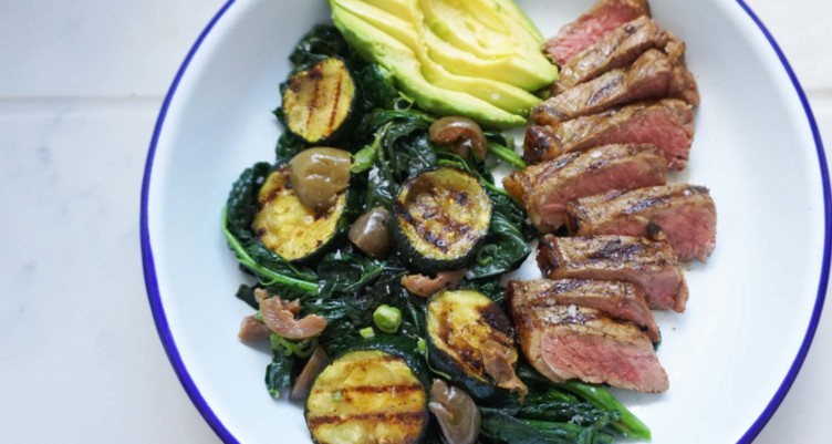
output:
[[[316,211],[301,204],[289,179],[289,165],[272,172],[258,194],[253,230],[266,248],[287,260],[314,260],[346,233],[346,192],[331,208]]]

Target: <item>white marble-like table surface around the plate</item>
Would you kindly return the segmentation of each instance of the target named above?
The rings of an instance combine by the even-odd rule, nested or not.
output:
[[[138,197],[163,96],[222,2],[0,1],[0,442],[219,442],[153,324]],[[832,144],[832,2],[748,3]],[[757,443],[832,442],[829,312]]]

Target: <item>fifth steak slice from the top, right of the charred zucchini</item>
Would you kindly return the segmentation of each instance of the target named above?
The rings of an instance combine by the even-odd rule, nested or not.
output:
[[[665,183],[665,158],[654,145],[606,145],[568,153],[512,172],[502,180],[541,233],[564,225],[566,204],[576,197]]]

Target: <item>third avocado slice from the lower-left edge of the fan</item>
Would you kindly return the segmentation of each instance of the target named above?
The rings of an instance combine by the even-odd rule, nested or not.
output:
[[[497,82],[505,82],[522,87],[527,91],[537,91],[552,83],[557,71],[545,59],[540,62],[547,66],[538,66],[529,63],[526,59],[516,54],[517,45],[508,45],[505,53],[498,53],[497,48],[491,48],[491,53],[472,53],[453,45],[440,39],[425,22],[426,16],[415,0],[365,0],[367,3],[398,17],[410,23],[423,23],[422,38],[427,49],[427,56],[440,64],[448,72],[467,75],[471,72],[478,76]],[[440,22],[437,25],[447,25]],[[483,50],[486,51],[486,50]]]

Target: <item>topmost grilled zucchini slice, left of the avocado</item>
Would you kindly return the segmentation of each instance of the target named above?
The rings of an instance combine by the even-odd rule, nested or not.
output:
[[[292,74],[282,94],[287,128],[311,145],[343,134],[358,103],[350,70],[334,56]]]

